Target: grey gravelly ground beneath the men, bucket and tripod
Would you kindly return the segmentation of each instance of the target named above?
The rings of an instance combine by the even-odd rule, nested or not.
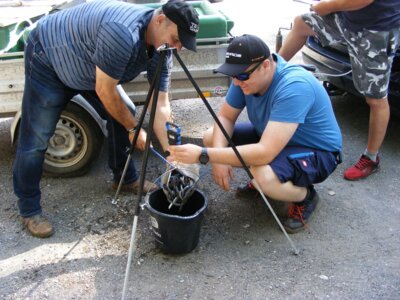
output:
[[[210,103],[217,109],[221,101]],[[143,210],[128,299],[398,299],[400,123],[390,123],[381,171],[348,182],[342,173],[364,147],[368,110],[349,96],[333,103],[344,136],[344,162],[316,186],[321,202],[309,230],[291,236],[300,255],[292,254],[261,198],[240,199],[233,190],[222,191],[209,166],[203,167],[199,189],[209,205],[197,248],[186,255],[163,254]],[[212,124],[201,101],[175,101],[173,107],[184,142],[200,144]],[[0,123],[0,298],[120,298],[133,199],[126,195],[121,207],[111,204],[106,149],[83,177],[43,178],[43,206],[56,233],[36,239],[17,219],[9,126],[9,120]],[[163,168],[151,155],[147,178],[155,180]],[[238,169],[232,189],[245,180]],[[284,213],[283,205],[273,206],[278,215]]]

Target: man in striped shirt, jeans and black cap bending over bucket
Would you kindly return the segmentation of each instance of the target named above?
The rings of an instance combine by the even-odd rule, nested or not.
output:
[[[171,0],[158,10],[119,1],[93,1],[39,21],[25,48],[25,90],[13,174],[21,220],[32,235],[53,234],[51,223],[42,216],[39,183],[47,142],[71,98],[81,94],[105,109],[115,189],[137,125],[117,85],[145,70],[150,81],[160,58],[156,49],[164,44],[196,51],[198,26],[196,11],[180,0]],[[171,116],[167,94],[171,67],[169,53],[163,63],[154,123],[164,150],[168,148],[165,122]],[[141,129],[136,146],[143,150],[145,141]],[[138,174],[130,161],[122,190],[136,193],[138,187]],[[146,182],[144,192],[154,188]]]

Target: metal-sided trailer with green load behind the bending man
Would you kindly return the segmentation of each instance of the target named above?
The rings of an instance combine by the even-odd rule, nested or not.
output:
[[[11,1],[22,3],[24,1]],[[24,58],[23,40],[34,27],[35,22],[47,13],[77,5],[83,1],[72,1],[48,6],[49,1],[30,1],[29,10],[34,5],[36,12],[18,21],[4,22],[0,13],[0,117],[13,117],[11,125],[11,140],[15,144],[18,138],[21,102],[24,90]],[[50,1],[51,2],[51,1]],[[46,8],[40,7],[45,4]],[[225,60],[225,52],[230,40],[229,31],[233,22],[222,12],[215,10],[208,1],[189,2],[199,12],[200,31],[197,39],[197,52],[186,49],[179,55],[189,69],[192,77],[199,85],[205,97],[224,96],[230,84],[230,79],[213,72]],[[159,3],[145,4],[151,7]],[[40,7],[40,8],[39,8]],[[10,7],[11,8],[11,7]],[[17,6],[14,11],[18,10]],[[4,7],[2,13],[7,13]],[[21,9],[22,11],[23,9]],[[9,10],[10,12],[13,9]],[[8,16],[12,15],[8,12]],[[26,11],[28,12],[28,10]],[[22,14],[23,15],[23,14]],[[3,17],[3,19],[2,19]],[[28,21],[27,21],[28,20]],[[22,28],[22,29],[21,29]],[[12,43],[12,33],[17,35]],[[7,36],[8,35],[8,36]],[[6,51],[4,51],[4,49]],[[118,91],[125,103],[134,108],[144,102],[149,89],[147,74],[142,73],[133,81],[118,86]],[[179,63],[175,61],[171,75],[170,99],[187,99],[199,97]],[[181,105],[185,105],[182,101]],[[104,138],[107,136],[106,121],[95,103],[76,95],[71,99],[57,123],[55,133],[50,139],[45,155],[43,169],[48,175],[71,177],[85,174],[98,158]]]

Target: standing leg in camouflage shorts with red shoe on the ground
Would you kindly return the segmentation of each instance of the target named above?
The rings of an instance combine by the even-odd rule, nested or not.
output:
[[[354,85],[365,96],[370,108],[367,147],[359,160],[343,174],[347,180],[358,180],[379,170],[378,152],[390,118],[387,90],[400,30],[364,30],[361,34],[344,30],[344,37],[349,49]]]

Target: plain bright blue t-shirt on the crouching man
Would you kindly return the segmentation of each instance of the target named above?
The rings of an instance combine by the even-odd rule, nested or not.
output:
[[[323,86],[302,67],[288,64],[279,55],[267,91],[260,96],[244,95],[231,84],[226,95],[229,105],[247,108],[250,122],[261,136],[269,121],[298,123],[289,146],[304,146],[326,151],[342,149],[342,135],[332,104]]]

